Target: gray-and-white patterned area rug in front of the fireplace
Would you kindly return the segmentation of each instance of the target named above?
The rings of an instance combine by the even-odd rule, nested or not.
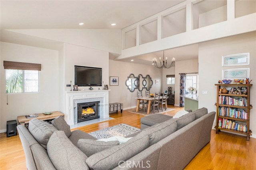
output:
[[[89,134],[94,136],[97,139],[103,139],[103,138],[110,138],[112,136],[128,136],[130,134],[134,134],[139,131],[140,131],[139,128],[135,128],[128,124],[122,123],[122,124],[118,124],[115,126],[101,129],[101,130],[97,130]]]

